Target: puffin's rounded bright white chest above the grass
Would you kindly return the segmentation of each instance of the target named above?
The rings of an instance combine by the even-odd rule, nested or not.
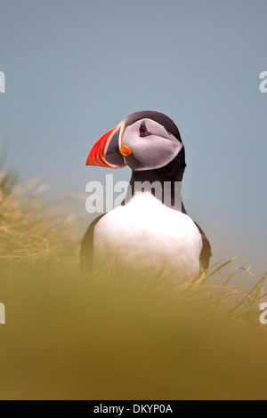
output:
[[[109,265],[116,259],[120,269],[164,270],[180,281],[198,273],[201,248],[198,228],[188,215],[140,193],[97,223],[93,265]]]

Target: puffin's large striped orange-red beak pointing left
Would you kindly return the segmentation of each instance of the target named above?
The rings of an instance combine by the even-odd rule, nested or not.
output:
[[[125,167],[125,159],[119,151],[120,126],[111,129],[98,140],[91,149],[86,165],[98,165],[108,168]]]

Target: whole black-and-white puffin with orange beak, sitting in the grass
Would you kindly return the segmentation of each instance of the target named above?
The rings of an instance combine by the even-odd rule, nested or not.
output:
[[[182,202],[185,149],[171,118],[150,110],[125,117],[94,144],[86,165],[127,165],[132,177],[121,205],[87,229],[81,245],[85,271],[116,264],[134,274],[158,271],[175,283],[205,273],[212,249]]]

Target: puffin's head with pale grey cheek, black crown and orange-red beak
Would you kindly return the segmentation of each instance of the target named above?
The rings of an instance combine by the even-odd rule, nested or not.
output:
[[[122,168],[134,171],[165,167],[179,155],[185,167],[182,139],[174,122],[152,111],[136,112],[95,143],[87,165]]]

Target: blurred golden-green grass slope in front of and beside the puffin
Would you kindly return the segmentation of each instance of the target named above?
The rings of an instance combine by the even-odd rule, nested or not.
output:
[[[0,176],[1,399],[267,398],[264,277],[251,293],[223,284],[223,261],[181,293],[157,274],[85,277],[75,221],[33,186]]]

